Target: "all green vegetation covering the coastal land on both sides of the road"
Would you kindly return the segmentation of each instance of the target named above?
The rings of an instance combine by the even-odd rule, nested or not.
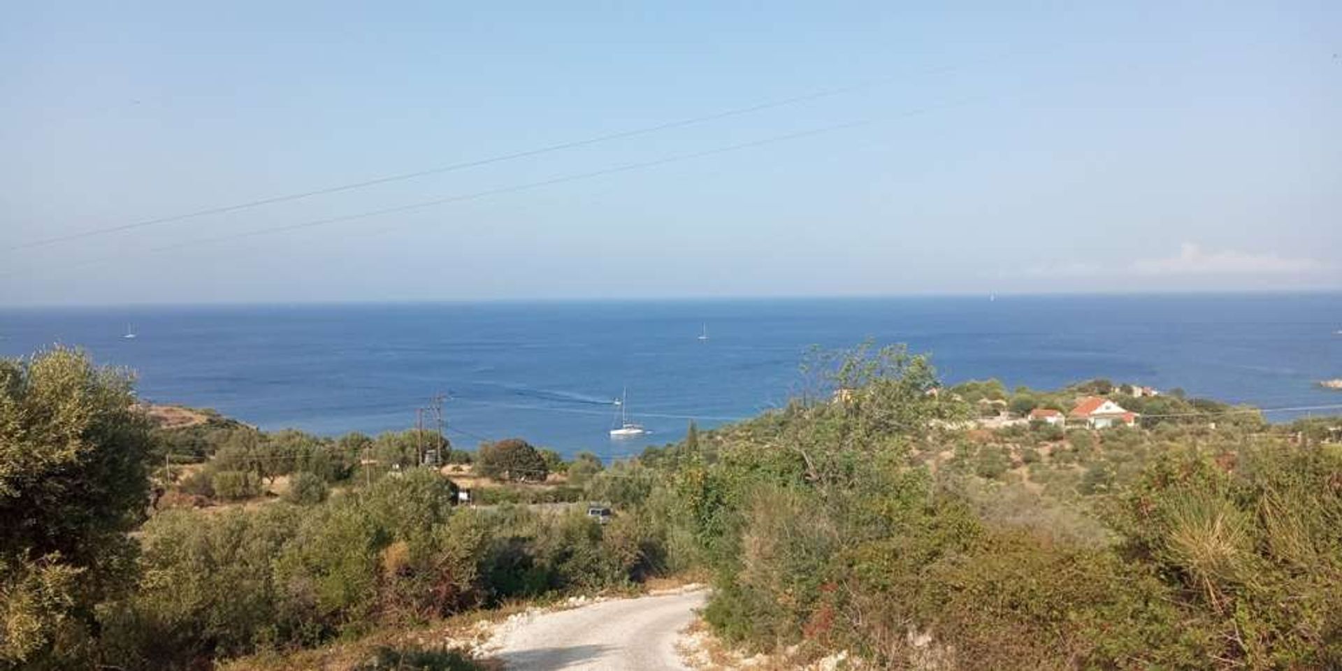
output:
[[[603,464],[517,439],[156,425],[126,373],[78,352],[0,362],[0,668],[285,667],[691,570],[721,640],[798,664],[1342,666],[1338,421],[1104,380],[946,389],[902,348],[804,372],[785,408]],[[973,425],[1087,395],[1150,417]],[[384,647],[352,664],[474,662]]]

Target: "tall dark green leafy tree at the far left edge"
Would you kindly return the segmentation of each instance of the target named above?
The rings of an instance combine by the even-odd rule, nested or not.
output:
[[[132,585],[149,424],[130,377],[75,350],[0,360],[0,666],[81,658]]]

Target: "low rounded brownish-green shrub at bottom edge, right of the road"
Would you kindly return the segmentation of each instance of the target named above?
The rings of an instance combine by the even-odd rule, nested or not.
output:
[[[954,668],[1170,667],[1197,659],[1173,593],[1107,550],[993,531],[968,556],[937,561],[909,616]],[[892,640],[892,636],[886,636]],[[896,659],[918,651],[895,648]],[[1194,664],[1197,666],[1197,664]]]

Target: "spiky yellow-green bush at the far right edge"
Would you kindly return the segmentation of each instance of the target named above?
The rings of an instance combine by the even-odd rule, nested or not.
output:
[[[1125,497],[1125,552],[1186,595],[1208,655],[1342,666],[1342,455],[1251,447],[1164,455]]]

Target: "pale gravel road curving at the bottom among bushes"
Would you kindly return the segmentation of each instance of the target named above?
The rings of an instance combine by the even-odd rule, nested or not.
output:
[[[537,615],[506,627],[488,647],[510,671],[684,670],[675,643],[706,599],[699,589]]]

